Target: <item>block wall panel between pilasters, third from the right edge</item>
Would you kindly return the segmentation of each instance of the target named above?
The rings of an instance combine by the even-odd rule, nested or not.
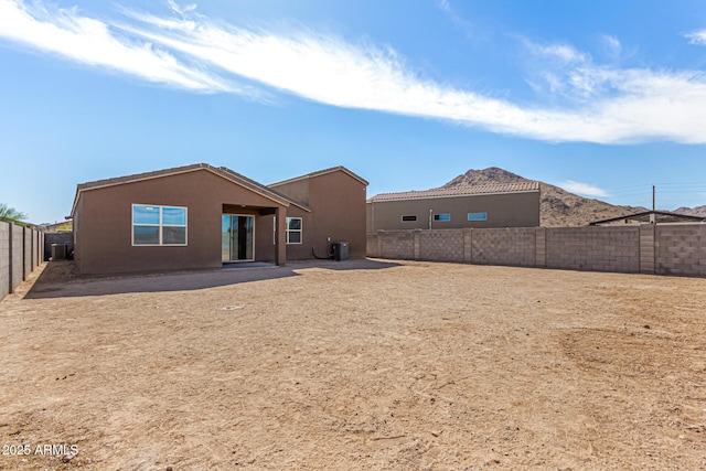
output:
[[[473,229],[471,261],[483,265],[536,265],[536,231],[527,228]]]

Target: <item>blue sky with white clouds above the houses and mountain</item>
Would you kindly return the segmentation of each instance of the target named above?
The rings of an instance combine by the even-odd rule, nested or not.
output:
[[[702,0],[0,0],[0,202],[182,164],[706,204]]]

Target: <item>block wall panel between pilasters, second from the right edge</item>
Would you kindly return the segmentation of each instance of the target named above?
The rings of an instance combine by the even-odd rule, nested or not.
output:
[[[640,227],[547,228],[548,268],[640,271]]]

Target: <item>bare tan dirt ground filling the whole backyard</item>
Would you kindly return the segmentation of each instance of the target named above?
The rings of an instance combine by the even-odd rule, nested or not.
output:
[[[2,470],[706,468],[706,279],[68,268],[0,302]]]

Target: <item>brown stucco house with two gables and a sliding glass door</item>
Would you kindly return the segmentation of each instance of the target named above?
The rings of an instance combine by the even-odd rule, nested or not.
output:
[[[266,186],[206,163],[77,186],[82,274],[217,268],[325,257],[330,242],[365,256],[367,182],[342,167]]]

